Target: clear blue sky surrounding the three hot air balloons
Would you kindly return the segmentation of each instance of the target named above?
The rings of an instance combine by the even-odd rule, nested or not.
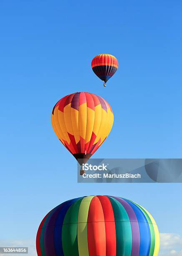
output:
[[[0,1],[0,239],[34,240],[44,215],[82,195],[144,206],[161,233],[182,236],[182,184],[77,184],[77,163],[50,123],[72,92],[105,98],[115,115],[95,158],[181,158],[182,2]],[[119,69],[103,87],[100,53]]]

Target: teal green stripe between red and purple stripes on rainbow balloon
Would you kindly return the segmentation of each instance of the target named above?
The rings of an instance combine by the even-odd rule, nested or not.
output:
[[[115,198],[108,197],[115,216],[117,255],[130,256],[132,252],[132,228],[125,208]]]

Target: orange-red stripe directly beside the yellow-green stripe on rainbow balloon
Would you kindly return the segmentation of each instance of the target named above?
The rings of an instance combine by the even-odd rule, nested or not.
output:
[[[89,256],[106,256],[105,220],[98,197],[93,197],[90,202],[87,233]]]

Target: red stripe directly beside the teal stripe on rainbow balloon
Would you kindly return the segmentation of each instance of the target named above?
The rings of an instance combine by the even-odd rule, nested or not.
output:
[[[116,256],[115,216],[111,202],[106,196],[97,196],[101,202],[105,218],[106,256]]]

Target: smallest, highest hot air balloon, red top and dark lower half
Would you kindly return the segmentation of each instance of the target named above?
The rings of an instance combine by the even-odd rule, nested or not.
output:
[[[118,61],[111,54],[99,54],[92,59],[92,70],[102,81],[106,82],[115,74],[118,69]]]

